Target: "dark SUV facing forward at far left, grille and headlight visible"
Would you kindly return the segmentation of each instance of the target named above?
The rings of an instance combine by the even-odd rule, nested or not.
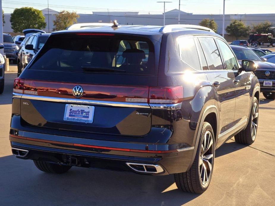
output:
[[[3,34],[4,53],[12,61],[17,60],[19,47],[14,43],[10,34]]]

